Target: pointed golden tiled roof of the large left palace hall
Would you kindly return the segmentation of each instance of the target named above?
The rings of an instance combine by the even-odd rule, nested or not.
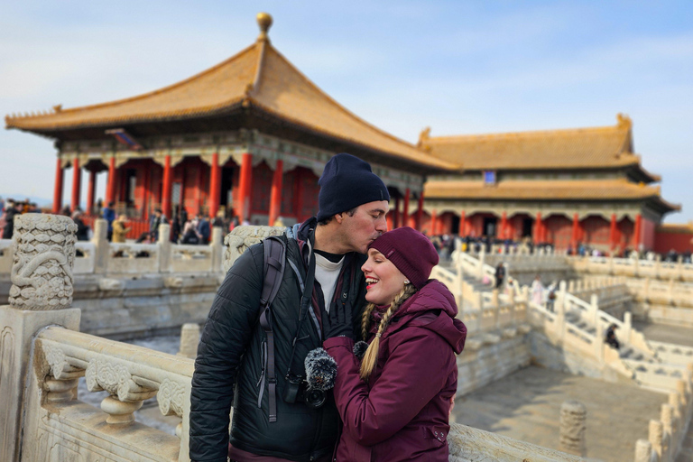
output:
[[[169,87],[94,106],[56,106],[49,114],[8,115],[5,124],[50,136],[81,127],[217,115],[239,105],[259,107],[311,131],[393,158],[435,170],[460,170],[457,162],[433,157],[349,112],[303,76],[263,35],[236,56]]]

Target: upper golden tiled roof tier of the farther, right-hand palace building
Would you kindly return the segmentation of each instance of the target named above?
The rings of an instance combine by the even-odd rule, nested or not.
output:
[[[425,130],[419,145],[467,171],[594,169],[639,164],[632,140],[631,119],[619,114],[615,126],[570,130],[435,137]]]

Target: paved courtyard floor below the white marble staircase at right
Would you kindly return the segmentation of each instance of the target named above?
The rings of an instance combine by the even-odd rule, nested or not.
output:
[[[631,462],[635,441],[647,439],[648,423],[659,419],[667,396],[634,384],[605,383],[530,366],[457,398],[452,417],[478,429],[559,449],[560,405],[567,400],[587,407],[587,457]]]

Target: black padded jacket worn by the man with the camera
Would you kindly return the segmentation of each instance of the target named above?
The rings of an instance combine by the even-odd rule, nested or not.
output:
[[[307,232],[301,227],[299,236]],[[282,239],[287,242],[287,259],[296,264],[301,278],[306,281],[307,264],[305,255],[300,254],[299,243],[286,236]],[[209,311],[190,394],[189,456],[192,460],[226,462],[232,402],[234,421],[230,441],[234,448],[260,456],[310,461],[331,454],[337,442],[339,416],[331,393],[328,393],[328,402],[318,410],[310,409],[303,402],[288,403],[282,399],[294,338],[297,341],[291,359],[293,374],[305,377],[306,355],[322,346],[322,338],[310,313],[299,322],[300,283],[289,263],[285,265],[282,283],[271,308],[277,421],[269,422],[266,372],[263,380],[266,335],[258,322],[263,252],[263,245],[258,244],[238,257]],[[365,280],[360,271],[364,262],[364,255],[346,255],[338,280],[343,282],[343,287],[340,293],[336,291],[336,298],[345,290],[349,292],[348,300],[356,308],[356,332],[365,300]],[[354,276],[354,279],[348,277],[351,282],[346,281],[348,273]],[[261,387],[262,402],[258,407]]]

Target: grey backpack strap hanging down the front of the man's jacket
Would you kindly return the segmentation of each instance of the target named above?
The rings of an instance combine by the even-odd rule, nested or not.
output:
[[[274,335],[272,331],[272,310],[270,305],[279,291],[284,275],[286,244],[276,236],[263,240],[264,247],[264,281],[260,295],[260,326],[267,336],[267,382],[269,386],[270,421],[277,421],[277,377],[274,371]]]

